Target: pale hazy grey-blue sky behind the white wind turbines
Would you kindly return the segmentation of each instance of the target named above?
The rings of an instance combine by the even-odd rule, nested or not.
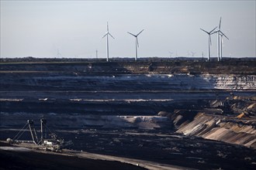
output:
[[[223,56],[256,56],[256,1],[2,1],[1,57],[207,56],[208,36],[218,26],[230,40]],[[217,36],[211,53],[216,56]],[[172,54],[171,54],[171,53]],[[60,55],[59,55],[60,56]]]

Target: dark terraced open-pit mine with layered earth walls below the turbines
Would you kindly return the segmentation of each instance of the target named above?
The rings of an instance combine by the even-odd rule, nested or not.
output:
[[[156,169],[254,169],[254,66],[3,62],[0,140],[13,138],[27,120],[39,130],[45,117],[48,127],[73,141],[76,155],[144,160],[140,167],[149,169],[145,162]]]

